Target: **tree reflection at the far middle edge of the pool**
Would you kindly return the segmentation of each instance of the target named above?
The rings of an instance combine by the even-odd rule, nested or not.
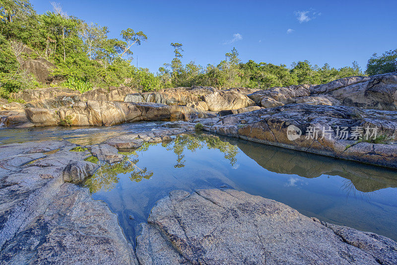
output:
[[[172,150],[177,155],[177,163],[174,165],[175,168],[181,168],[185,166],[186,160],[184,151],[188,149],[195,152],[198,149],[206,147],[207,149],[218,149],[224,153],[224,157],[229,160],[233,166],[236,163],[236,155],[239,152],[237,146],[230,144],[229,142],[222,141],[219,137],[211,134],[185,134],[178,135],[173,141],[163,144],[167,150]]]

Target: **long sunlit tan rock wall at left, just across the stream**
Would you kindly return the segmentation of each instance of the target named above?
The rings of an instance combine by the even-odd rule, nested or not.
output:
[[[126,122],[189,121],[214,116],[186,106],[95,100],[58,109],[26,108],[25,113],[36,126],[113,126]]]

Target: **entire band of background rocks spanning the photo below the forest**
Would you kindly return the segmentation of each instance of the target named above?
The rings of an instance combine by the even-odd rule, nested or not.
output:
[[[397,110],[397,73],[345,77],[322,85],[292,85],[267,90],[178,87],[137,93],[130,87],[85,93],[66,88],[23,90],[12,95],[25,103],[0,106],[5,127],[112,126],[137,121],[189,121],[289,104]],[[386,113],[386,115],[389,115]]]

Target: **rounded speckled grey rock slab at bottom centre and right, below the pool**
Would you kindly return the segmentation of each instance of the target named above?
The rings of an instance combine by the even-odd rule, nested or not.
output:
[[[397,243],[235,190],[174,191],[137,237],[141,264],[396,264]]]

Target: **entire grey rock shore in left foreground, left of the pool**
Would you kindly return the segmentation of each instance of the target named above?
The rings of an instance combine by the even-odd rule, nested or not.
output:
[[[79,182],[97,168],[67,141],[1,145],[0,260],[10,264],[132,264],[116,216]],[[115,225],[116,224],[116,225]]]

